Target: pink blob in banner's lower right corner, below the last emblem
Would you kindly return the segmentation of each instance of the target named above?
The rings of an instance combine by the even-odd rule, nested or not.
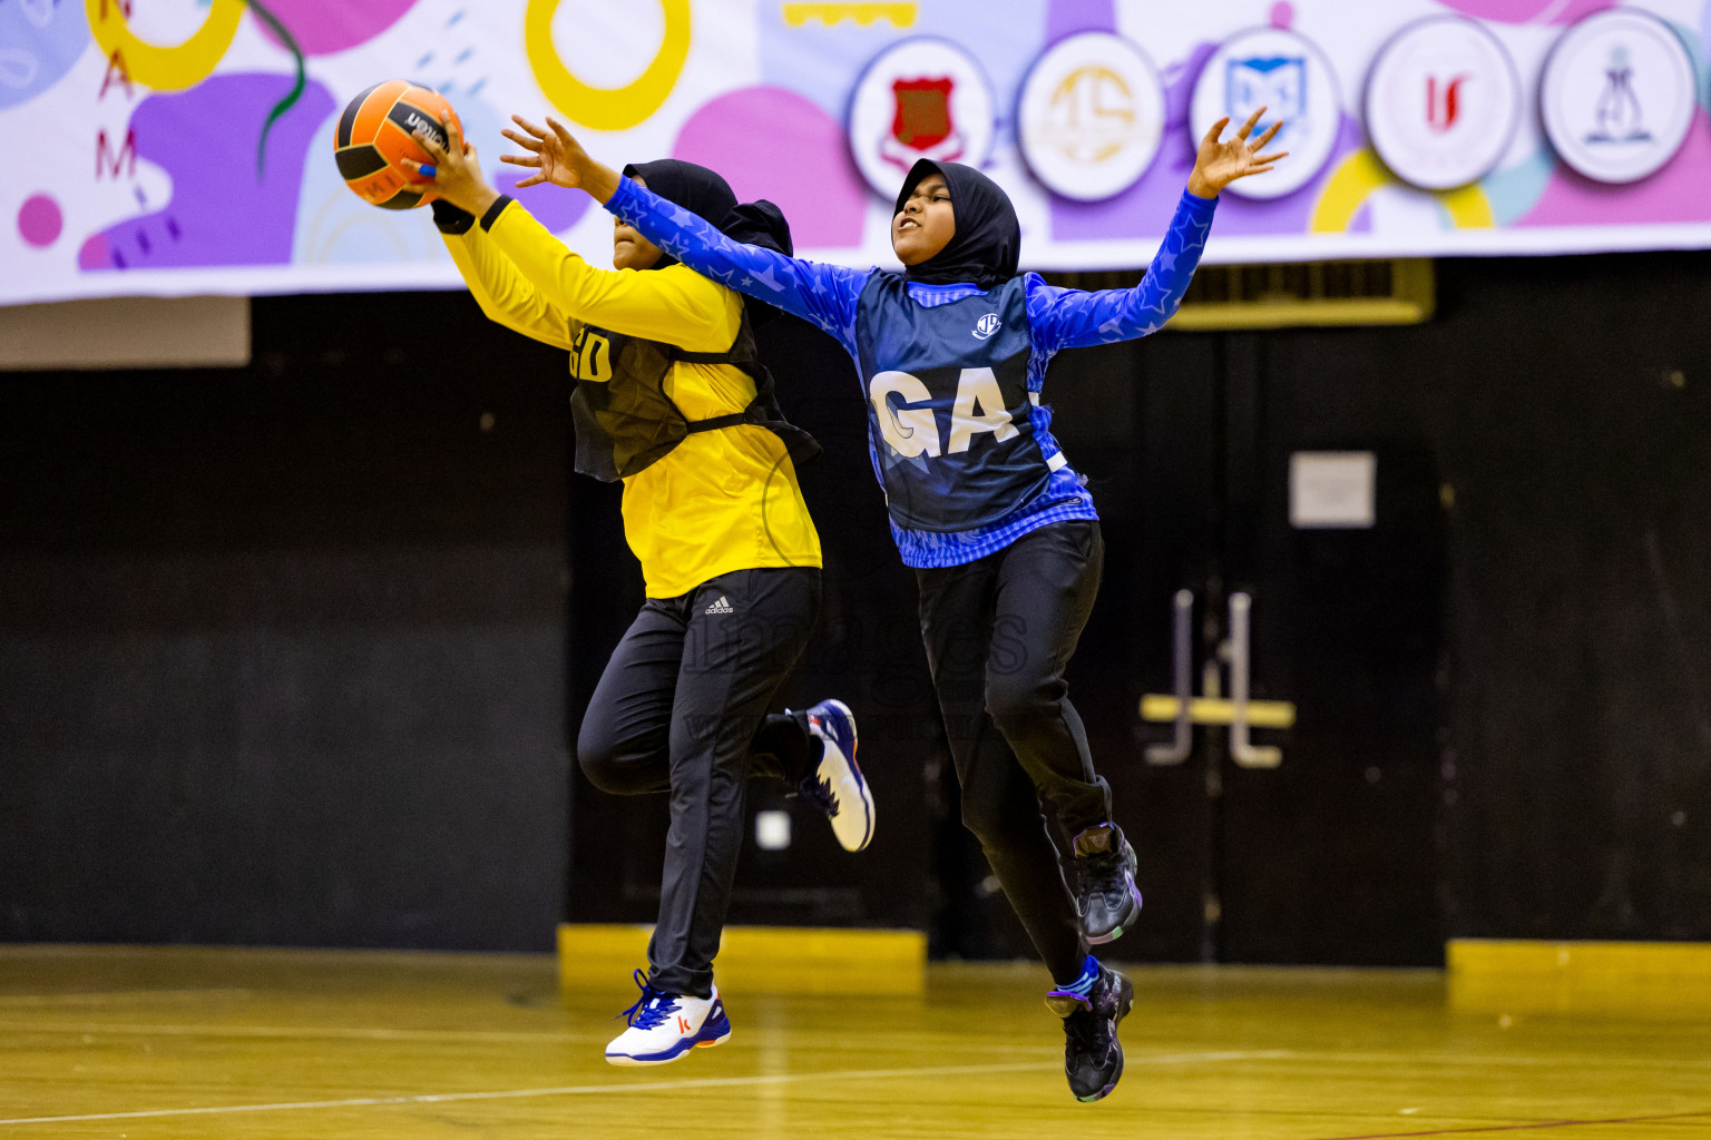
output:
[[[1518,226],[1620,226],[1711,220],[1702,171],[1711,166],[1711,120],[1694,115],[1687,142],[1670,164],[1639,183],[1610,186],[1557,166],[1550,185]]]

